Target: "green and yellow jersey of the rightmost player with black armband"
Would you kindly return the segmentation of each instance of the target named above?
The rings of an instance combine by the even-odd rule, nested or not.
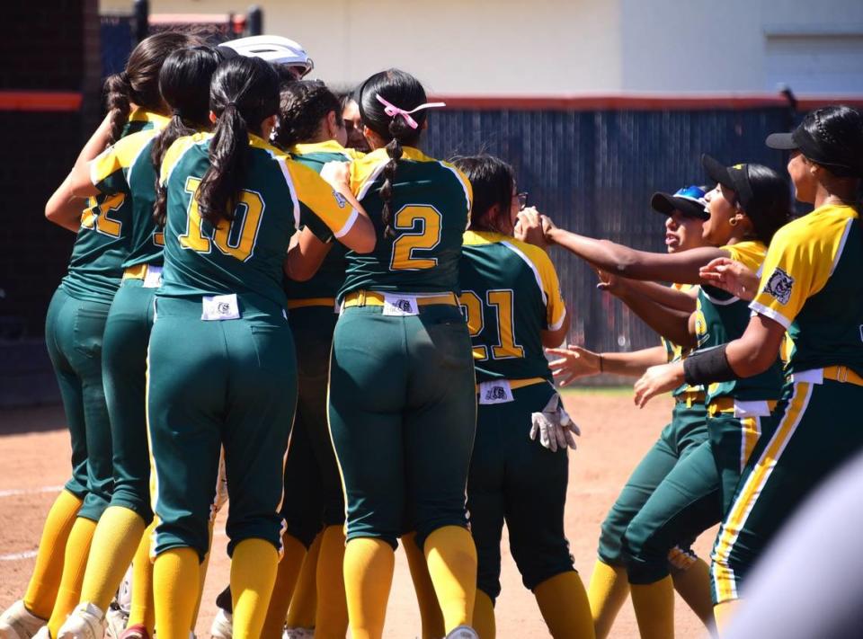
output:
[[[846,366],[863,375],[863,229],[828,204],[777,231],[752,310],[787,328],[787,370]]]

